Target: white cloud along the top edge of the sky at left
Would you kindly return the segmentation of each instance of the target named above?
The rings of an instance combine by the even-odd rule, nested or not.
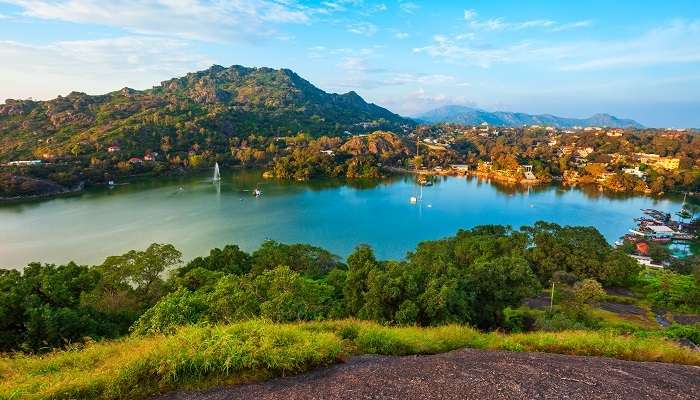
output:
[[[26,16],[117,27],[129,32],[203,41],[255,40],[278,24],[305,24],[312,9],[274,0],[4,0]]]

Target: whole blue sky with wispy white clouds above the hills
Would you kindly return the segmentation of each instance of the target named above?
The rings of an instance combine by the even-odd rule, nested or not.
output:
[[[2,99],[241,64],[403,115],[464,104],[700,127],[695,0],[0,0],[0,60]]]

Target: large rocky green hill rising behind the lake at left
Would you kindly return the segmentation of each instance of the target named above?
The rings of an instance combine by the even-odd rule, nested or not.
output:
[[[188,150],[232,136],[337,135],[411,123],[355,92],[326,93],[288,69],[215,65],[148,90],[6,100],[0,161],[89,154],[114,143],[143,151],[166,140]]]

